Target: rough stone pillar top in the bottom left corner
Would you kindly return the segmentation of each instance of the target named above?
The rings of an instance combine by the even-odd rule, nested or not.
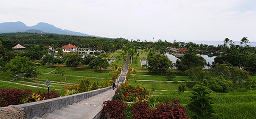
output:
[[[14,107],[12,105],[0,107],[0,118],[24,119],[25,118],[24,108]]]

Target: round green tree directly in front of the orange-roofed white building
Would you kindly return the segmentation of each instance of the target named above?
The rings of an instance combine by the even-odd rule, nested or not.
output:
[[[74,67],[80,64],[81,55],[79,53],[66,53],[63,55],[63,62],[68,67]]]

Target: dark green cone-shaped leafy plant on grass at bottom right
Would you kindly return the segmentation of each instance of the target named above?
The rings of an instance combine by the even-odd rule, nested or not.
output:
[[[192,118],[215,118],[209,89],[197,84],[192,90],[193,95],[189,96],[191,102],[187,104],[187,109],[193,114]]]

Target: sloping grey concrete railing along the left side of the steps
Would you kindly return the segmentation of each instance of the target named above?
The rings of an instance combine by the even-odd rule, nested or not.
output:
[[[104,92],[111,87],[105,87],[101,89],[91,90],[87,92],[72,94],[68,96],[62,96],[47,100],[35,101],[30,103],[14,105],[15,107],[21,107],[25,110],[25,118],[33,118],[34,116],[40,117],[45,112],[52,112],[54,109],[65,107],[68,104],[76,103],[85,98],[94,96],[98,93]]]

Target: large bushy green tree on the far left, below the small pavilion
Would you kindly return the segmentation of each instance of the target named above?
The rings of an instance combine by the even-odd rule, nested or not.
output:
[[[34,63],[25,56],[15,56],[5,65],[5,69],[13,76],[20,74],[24,74],[25,77],[36,76]]]

